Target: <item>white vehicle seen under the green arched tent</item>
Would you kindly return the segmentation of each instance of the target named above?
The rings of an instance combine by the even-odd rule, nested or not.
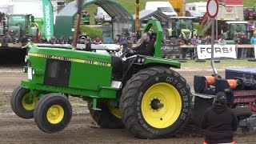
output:
[[[94,20],[95,24],[97,25],[98,22],[101,22],[102,24],[104,22],[111,22],[111,17],[109,14],[106,13],[105,10],[102,9],[102,7],[97,7]]]

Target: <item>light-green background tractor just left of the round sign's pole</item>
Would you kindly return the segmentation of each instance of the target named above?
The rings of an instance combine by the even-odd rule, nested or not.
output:
[[[169,36],[172,43],[178,37],[182,37],[189,41],[193,36],[198,36],[198,30],[194,29],[194,17],[172,17],[171,28],[169,29]]]

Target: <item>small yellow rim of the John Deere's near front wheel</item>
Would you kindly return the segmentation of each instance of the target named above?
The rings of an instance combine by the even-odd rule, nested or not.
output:
[[[50,123],[57,124],[62,122],[62,119],[64,118],[64,110],[62,106],[59,105],[50,106],[46,116]]]

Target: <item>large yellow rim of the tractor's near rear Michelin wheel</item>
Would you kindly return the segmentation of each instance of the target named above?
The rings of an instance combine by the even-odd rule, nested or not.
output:
[[[151,86],[142,98],[142,115],[146,122],[162,129],[174,124],[182,111],[178,90],[166,82]]]

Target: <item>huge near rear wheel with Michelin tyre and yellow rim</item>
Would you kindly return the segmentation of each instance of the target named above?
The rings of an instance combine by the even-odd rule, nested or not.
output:
[[[174,70],[150,67],[134,74],[122,90],[122,121],[137,138],[169,138],[190,117],[190,86]]]

